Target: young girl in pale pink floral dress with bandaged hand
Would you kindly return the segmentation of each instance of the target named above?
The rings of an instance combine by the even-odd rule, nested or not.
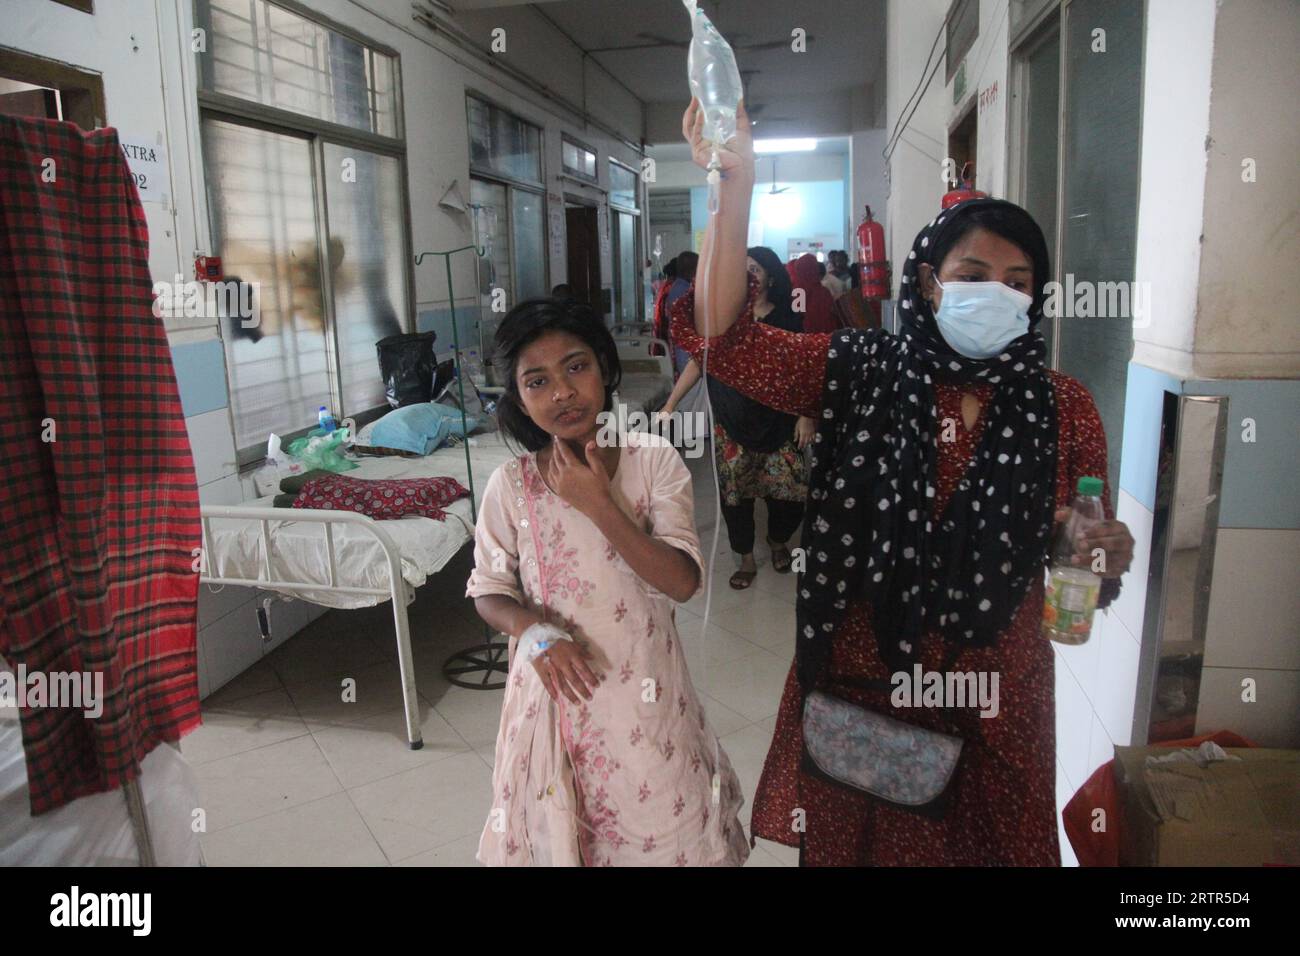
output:
[[[740,865],[740,786],[673,623],[703,580],[690,475],[663,438],[602,429],[621,371],[586,306],[519,304],[497,352],[528,453],[488,483],[467,589],[512,646],[478,858]],[[566,826],[575,852],[551,852]]]

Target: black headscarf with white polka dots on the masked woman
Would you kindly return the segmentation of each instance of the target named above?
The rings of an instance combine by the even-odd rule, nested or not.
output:
[[[948,230],[965,229],[980,209],[1010,224],[998,232],[1011,233],[1030,256],[1035,294],[1030,332],[998,355],[971,359],[940,334],[918,267],[937,271],[931,250],[942,248],[956,234]],[[868,329],[832,337],[798,594],[796,646],[806,688],[823,675],[831,635],[854,598],[872,609],[884,661],[910,667],[927,635],[954,645],[993,644],[1043,574],[1057,468],[1056,393],[1037,330],[1048,278],[1046,243],[1027,212],[1001,199],[967,200],[916,235],[904,264],[898,334]],[[940,514],[936,445],[963,425],[937,420],[936,381],[992,386],[975,457]]]

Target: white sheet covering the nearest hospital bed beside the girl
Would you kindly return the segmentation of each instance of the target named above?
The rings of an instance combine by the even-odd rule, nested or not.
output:
[[[473,436],[469,447],[474,471],[474,494],[482,496],[488,477],[512,457],[499,432]],[[422,458],[360,458],[359,468],[347,472],[360,479],[454,477],[469,486],[463,447],[438,449]],[[270,506],[274,496],[244,502]],[[287,509],[281,509],[291,514]],[[446,566],[474,535],[469,499],[462,498],[447,509],[446,519],[400,518],[378,522],[402,555],[402,578],[419,588],[429,575]],[[213,578],[260,579],[264,576],[261,523],[213,518],[208,541],[208,575]],[[389,588],[389,564],[376,537],[355,524],[334,524],[337,583],[351,588]],[[316,522],[274,522],[270,525],[272,567],[287,580],[320,581],[321,591],[292,592],[269,587],[266,591],[298,597],[325,607],[369,607],[386,597],[348,594],[330,591],[325,525]],[[261,585],[260,585],[261,587]]]

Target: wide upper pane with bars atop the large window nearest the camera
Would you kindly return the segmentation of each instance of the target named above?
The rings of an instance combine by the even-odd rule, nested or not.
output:
[[[398,135],[396,62],[266,0],[207,0],[208,88]]]

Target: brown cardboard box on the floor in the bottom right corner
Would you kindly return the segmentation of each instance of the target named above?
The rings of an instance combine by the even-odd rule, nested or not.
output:
[[[1115,748],[1121,866],[1300,866],[1300,750],[1147,761],[1176,752]]]

